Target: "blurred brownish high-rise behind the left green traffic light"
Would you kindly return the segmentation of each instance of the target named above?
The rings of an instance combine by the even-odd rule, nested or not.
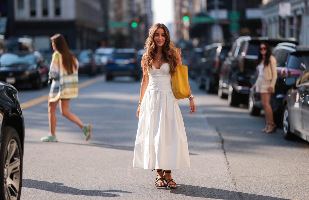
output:
[[[109,46],[143,48],[151,25],[150,0],[109,0]]]

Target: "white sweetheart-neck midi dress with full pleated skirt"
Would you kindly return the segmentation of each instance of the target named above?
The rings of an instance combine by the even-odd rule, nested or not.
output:
[[[149,83],[141,102],[133,167],[190,167],[184,121],[171,86],[170,65],[148,71]]]

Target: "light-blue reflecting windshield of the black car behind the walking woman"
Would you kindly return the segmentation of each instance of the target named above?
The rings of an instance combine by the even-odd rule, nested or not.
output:
[[[0,58],[1,66],[14,65],[14,64],[28,64],[33,65],[36,59],[33,54],[17,55],[13,53],[5,53]]]

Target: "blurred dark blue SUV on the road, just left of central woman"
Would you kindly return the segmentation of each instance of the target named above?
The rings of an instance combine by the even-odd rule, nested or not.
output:
[[[136,81],[141,78],[141,65],[138,63],[136,50],[133,48],[116,49],[106,65],[106,80],[112,80],[115,76],[131,76]]]

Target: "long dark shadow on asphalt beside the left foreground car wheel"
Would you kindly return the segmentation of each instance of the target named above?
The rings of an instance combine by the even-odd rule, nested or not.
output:
[[[72,194],[72,195],[84,195],[84,196],[94,196],[94,197],[119,197],[117,193],[132,193],[122,190],[79,190],[77,188],[72,188],[65,186],[63,183],[47,182],[47,181],[37,181],[32,179],[23,179],[23,187],[34,188],[38,190],[46,190],[49,192],[54,192],[58,194]],[[111,193],[108,193],[111,192]]]

